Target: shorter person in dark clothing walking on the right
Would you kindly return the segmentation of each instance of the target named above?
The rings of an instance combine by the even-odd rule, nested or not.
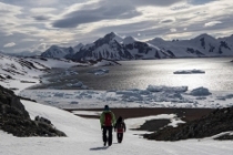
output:
[[[114,126],[114,131],[116,132],[118,143],[121,143],[123,140],[123,133],[126,131],[126,126],[122,116],[119,116]]]

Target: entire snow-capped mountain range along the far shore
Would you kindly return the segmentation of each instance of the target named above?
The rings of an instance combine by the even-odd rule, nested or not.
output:
[[[60,52],[58,52],[60,51]],[[62,53],[62,54],[61,54]],[[111,32],[93,43],[74,48],[51,46],[42,56],[84,60],[141,60],[164,58],[200,58],[233,55],[233,35],[215,39],[201,34],[191,40],[166,41],[155,38],[146,42],[132,37],[121,38]]]

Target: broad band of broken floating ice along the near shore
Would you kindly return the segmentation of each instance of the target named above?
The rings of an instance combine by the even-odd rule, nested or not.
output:
[[[150,89],[149,89],[150,87]],[[233,92],[210,92],[206,87],[149,85],[146,90],[23,90],[21,96],[61,108],[103,107],[226,107]],[[78,102],[78,104],[72,104]]]

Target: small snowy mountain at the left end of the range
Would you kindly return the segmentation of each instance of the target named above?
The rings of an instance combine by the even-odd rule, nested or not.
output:
[[[58,45],[52,45],[45,52],[43,52],[41,54],[41,56],[61,59],[68,54],[74,54],[74,49],[71,46],[70,48],[61,48]]]

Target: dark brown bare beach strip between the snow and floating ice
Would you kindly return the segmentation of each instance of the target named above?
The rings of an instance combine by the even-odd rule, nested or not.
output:
[[[160,115],[160,114],[176,114],[176,116],[184,121],[185,123],[199,120],[215,108],[182,108],[182,107],[126,107],[126,108],[110,108],[114,114],[115,118],[118,116],[122,116],[124,120],[126,118],[136,118],[136,117],[144,117],[144,116],[152,116],[152,115]],[[102,112],[103,108],[79,108],[79,110],[65,110],[68,112],[72,111],[90,111],[90,112]],[[99,115],[84,115],[84,114],[74,114],[77,116],[81,116],[84,118],[99,118]],[[130,128],[133,131],[148,131],[148,132],[156,132],[168,124],[171,123],[171,120],[161,118],[161,120],[149,120],[141,124],[138,128]]]

